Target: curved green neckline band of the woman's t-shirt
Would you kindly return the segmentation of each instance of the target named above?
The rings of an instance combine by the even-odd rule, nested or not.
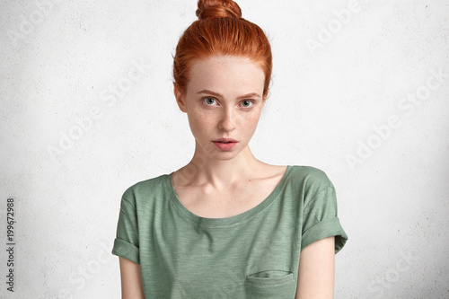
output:
[[[167,190],[170,194],[170,199],[171,199],[171,202],[174,205],[174,207],[176,207],[176,209],[180,212],[180,214],[182,216],[184,216],[186,219],[188,219],[189,221],[196,223],[200,226],[212,226],[212,227],[231,226],[234,224],[240,224],[240,223],[250,219],[254,215],[259,214],[266,207],[269,207],[269,205],[273,202],[273,200],[275,200],[277,198],[280,191],[282,189],[284,189],[284,186],[286,183],[286,178],[292,171],[292,168],[293,168],[292,165],[287,165],[286,172],[284,173],[284,176],[279,181],[279,183],[277,183],[276,188],[273,189],[273,191],[271,191],[269,196],[267,198],[265,198],[262,202],[260,202],[259,205],[257,205],[256,207],[251,207],[251,209],[249,209],[245,212],[242,212],[241,214],[233,215],[233,216],[225,217],[225,218],[202,217],[202,216],[199,216],[199,215],[196,215],[196,214],[190,212],[190,210],[187,207],[184,207],[184,205],[180,202],[180,198],[178,198],[176,191],[174,190],[174,187],[173,187],[173,183],[172,183],[173,172],[166,176],[165,187],[167,188]]]

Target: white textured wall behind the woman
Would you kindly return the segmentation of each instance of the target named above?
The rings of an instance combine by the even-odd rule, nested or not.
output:
[[[349,241],[336,298],[449,296],[449,4],[242,0],[274,80],[254,154],[312,165]],[[119,298],[120,196],[189,161],[172,54],[191,1],[0,1],[0,297]],[[14,293],[6,200],[14,198]]]

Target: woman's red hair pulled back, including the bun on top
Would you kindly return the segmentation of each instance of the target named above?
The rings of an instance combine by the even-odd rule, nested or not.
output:
[[[214,55],[248,57],[265,73],[263,96],[269,92],[272,57],[269,40],[260,27],[242,18],[232,0],[199,0],[198,21],[184,31],[173,63],[175,87],[187,91],[189,70],[199,59]]]

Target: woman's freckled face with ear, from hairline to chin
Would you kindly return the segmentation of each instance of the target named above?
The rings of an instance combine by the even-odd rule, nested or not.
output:
[[[197,153],[230,160],[248,146],[263,107],[265,74],[249,58],[214,56],[190,69],[187,91],[175,90]]]

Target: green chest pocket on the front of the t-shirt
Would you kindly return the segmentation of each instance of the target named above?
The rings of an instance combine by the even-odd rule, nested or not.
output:
[[[292,271],[267,270],[251,274],[245,280],[247,299],[292,299],[296,293],[295,275]]]

